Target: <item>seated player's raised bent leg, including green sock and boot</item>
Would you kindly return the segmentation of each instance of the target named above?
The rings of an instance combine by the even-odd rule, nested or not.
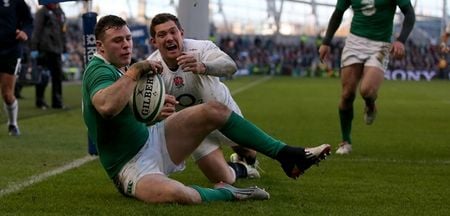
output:
[[[182,114],[184,113],[184,114]],[[286,174],[298,177],[329,153],[329,145],[305,151],[276,140],[218,102],[189,107],[166,120],[167,149],[175,164],[181,163],[214,129],[247,148],[278,160]]]

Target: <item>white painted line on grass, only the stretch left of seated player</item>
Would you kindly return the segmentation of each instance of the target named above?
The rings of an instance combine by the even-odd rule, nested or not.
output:
[[[48,172],[45,172],[45,173],[42,173],[42,174],[39,174],[39,175],[31,176],[26,181],[10,184],[5,189],[0,190],[0,197],[3,197],[3,196],[8,195],[10,193],[14,193],[14,192],[20,191],[23,188],[28,187],[28,186],[30,186],[32,184],[44,181],[45,179],[47,179],[47,178],[49,178],[51,176],[58,175],[58,174],[63,173],[65,171],[67,171],[67,170],[71,170],[73,168],[80,167],[83,164],[85,164],[85,163],[87,163],[89,161],[93,161],[95,159],[97,159],[97,156],[89,156],[88,155],[88,156],[85,156],[83,158],[79,158],[77,160],[74,160],[74,161],[72,161],[72,162],[70,162],[70,163],[68,163],[68,164],[66,164],[64,166],[58,167],[58,168],[56,168],[54,170],[50,170]]]

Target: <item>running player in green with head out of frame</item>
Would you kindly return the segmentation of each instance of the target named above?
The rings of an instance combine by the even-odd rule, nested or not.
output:
[[[354,14],[341,57],[342,94],[339,118],[342,143],[336,154],[349,154],[352,151],[353,101],[358,85],[366,105],[364,121],[370,125],[377,113],[375,100],[384,79],[389,55],[392,54],[394,58],[404,56],[404,44],[415,22],[414,8],[410,0],[338,0],[319,48],[322,61],[327,59],[334,33],[342,22],[344,12],[350,6]],[[397,6],[405,17],[400,35],[391,43]]]

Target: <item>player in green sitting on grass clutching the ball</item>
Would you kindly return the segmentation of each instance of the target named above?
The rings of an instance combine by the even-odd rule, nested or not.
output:
[[[159,37],[173,44],[176,35],[177,29],[172,28]],[[286,145],[218,101],[175,112],[175,97],[166,95],[161,121],[147,126],[136,120],[128,101],[136,80],[144,73],[161,73],[161,62],[143,60],[129,66],[133,41],[120,17],[102,17],[95,38],[97,52],[83,73],[83,118],[103,168],[125,196],[147,203],[181,204],[268,199],[269,193],[258,187],[236,188],[219,182],[214,188],[204,188],[168,177],[184,169],[185,159],[214,130],[277,160],[293,179],[330,152],[328,144],[313,148]]]

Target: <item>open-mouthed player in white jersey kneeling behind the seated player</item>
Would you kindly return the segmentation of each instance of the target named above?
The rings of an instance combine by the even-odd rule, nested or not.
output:
[[[161,13],[152,19],[151,43],[158,49],[148,59],[160,61],[162,77],[168,94],[179,102],[176,110],[182,110],[208,101],[219,101],[242,116],[239,106],[220,77],[229,77],[236,72],[236,64],[225,52],[207,40],[184,38],[178,18]],[[226,162],[221,144],[236,152]],[[240,147],[223,136],[212,132],[192,154],[200,170],[212,182],[234,183],[236,178],[259,178],[256,169],[256,152]]]

